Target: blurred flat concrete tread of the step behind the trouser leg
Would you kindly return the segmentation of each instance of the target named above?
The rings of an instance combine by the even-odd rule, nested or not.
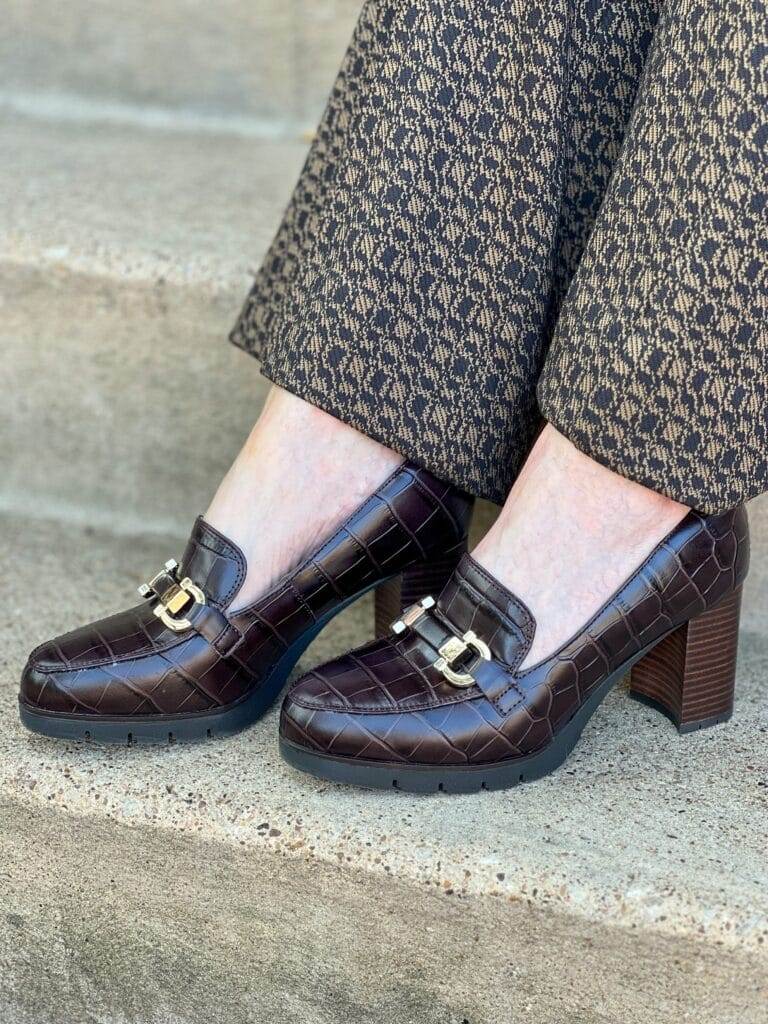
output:
[[[0,259],[245,297],[300,139],[0,118]]]

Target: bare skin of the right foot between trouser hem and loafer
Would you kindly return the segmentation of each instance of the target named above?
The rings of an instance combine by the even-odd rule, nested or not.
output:
[[[687,512],[546,426],[473,552],[536,618],[520,668],[549,657],[582,629]]]

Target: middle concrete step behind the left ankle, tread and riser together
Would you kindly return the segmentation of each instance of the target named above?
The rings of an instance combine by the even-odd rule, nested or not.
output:
[[[0,121],[4,507],[188,528],[266,392],[225,338],[305,148]]]

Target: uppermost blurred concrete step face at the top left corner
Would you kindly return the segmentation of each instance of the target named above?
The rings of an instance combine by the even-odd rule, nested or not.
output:
[[[359,0],[6,0],[0,98],[29,113],[311,127]]]

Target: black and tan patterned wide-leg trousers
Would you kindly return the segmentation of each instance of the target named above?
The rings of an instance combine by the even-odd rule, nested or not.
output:
[[[495,501],[768,489],[766,2],[369,0],[232,340]]]

